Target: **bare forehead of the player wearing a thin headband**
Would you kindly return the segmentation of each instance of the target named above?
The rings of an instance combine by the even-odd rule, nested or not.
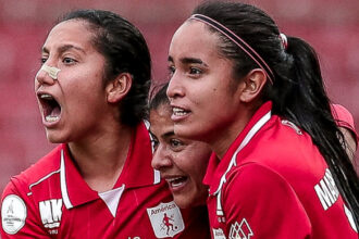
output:
[[[170,55],[182,56],[219,56],[219,37],[199,21],[186,21],[173,35]]]

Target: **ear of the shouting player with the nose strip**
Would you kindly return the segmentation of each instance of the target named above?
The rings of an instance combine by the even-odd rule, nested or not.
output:
[[[106,87],[108,102],[116,103],[124,98],[131,89],[132,81],[129,73],[121,73],[115,79],[108,83]]]

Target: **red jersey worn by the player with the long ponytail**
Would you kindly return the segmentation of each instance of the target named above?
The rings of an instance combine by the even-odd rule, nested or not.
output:
[[[205,176],[212,238],[358,238],[311,137],[263,104]]]

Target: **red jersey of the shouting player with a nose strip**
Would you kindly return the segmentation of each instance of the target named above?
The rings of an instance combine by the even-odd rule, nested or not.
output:
[[[196,227],[199,222],[187,221],[191,215],[182,214],[174,203],[159,172],[151,167],[151,158],[149,135],[140,124],[114,188],[99,193],[81,176],[67,146],[59,146],[11,178],[2,194],[2,238],[147,239],[202,235],[203,228]],[[170,228],[162,222],[164,214],[171,218]],[[189,226],[191,229],[185,230]]]

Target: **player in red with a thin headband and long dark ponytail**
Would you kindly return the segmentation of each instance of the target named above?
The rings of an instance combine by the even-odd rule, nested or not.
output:
[[[214,152],[213,238],[358,238],[358,177],[308,43],[252,5],[205,2],[169,68],[174,133]]]

